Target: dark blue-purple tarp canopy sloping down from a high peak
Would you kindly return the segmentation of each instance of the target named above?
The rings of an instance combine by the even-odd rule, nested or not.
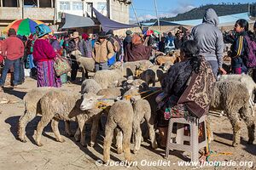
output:
[[[92,8],[92,9],[96,15],[97,20],[99,20],[99,22],[101,23],[103,31],[119,30],[119,29],[124,29],[124,28],[137,27],[137,25],[122,24],[117,21],[110,20],[110,19],[108,19],[108,17],[104,16],[99,11],[97,11],[95,8]]]

